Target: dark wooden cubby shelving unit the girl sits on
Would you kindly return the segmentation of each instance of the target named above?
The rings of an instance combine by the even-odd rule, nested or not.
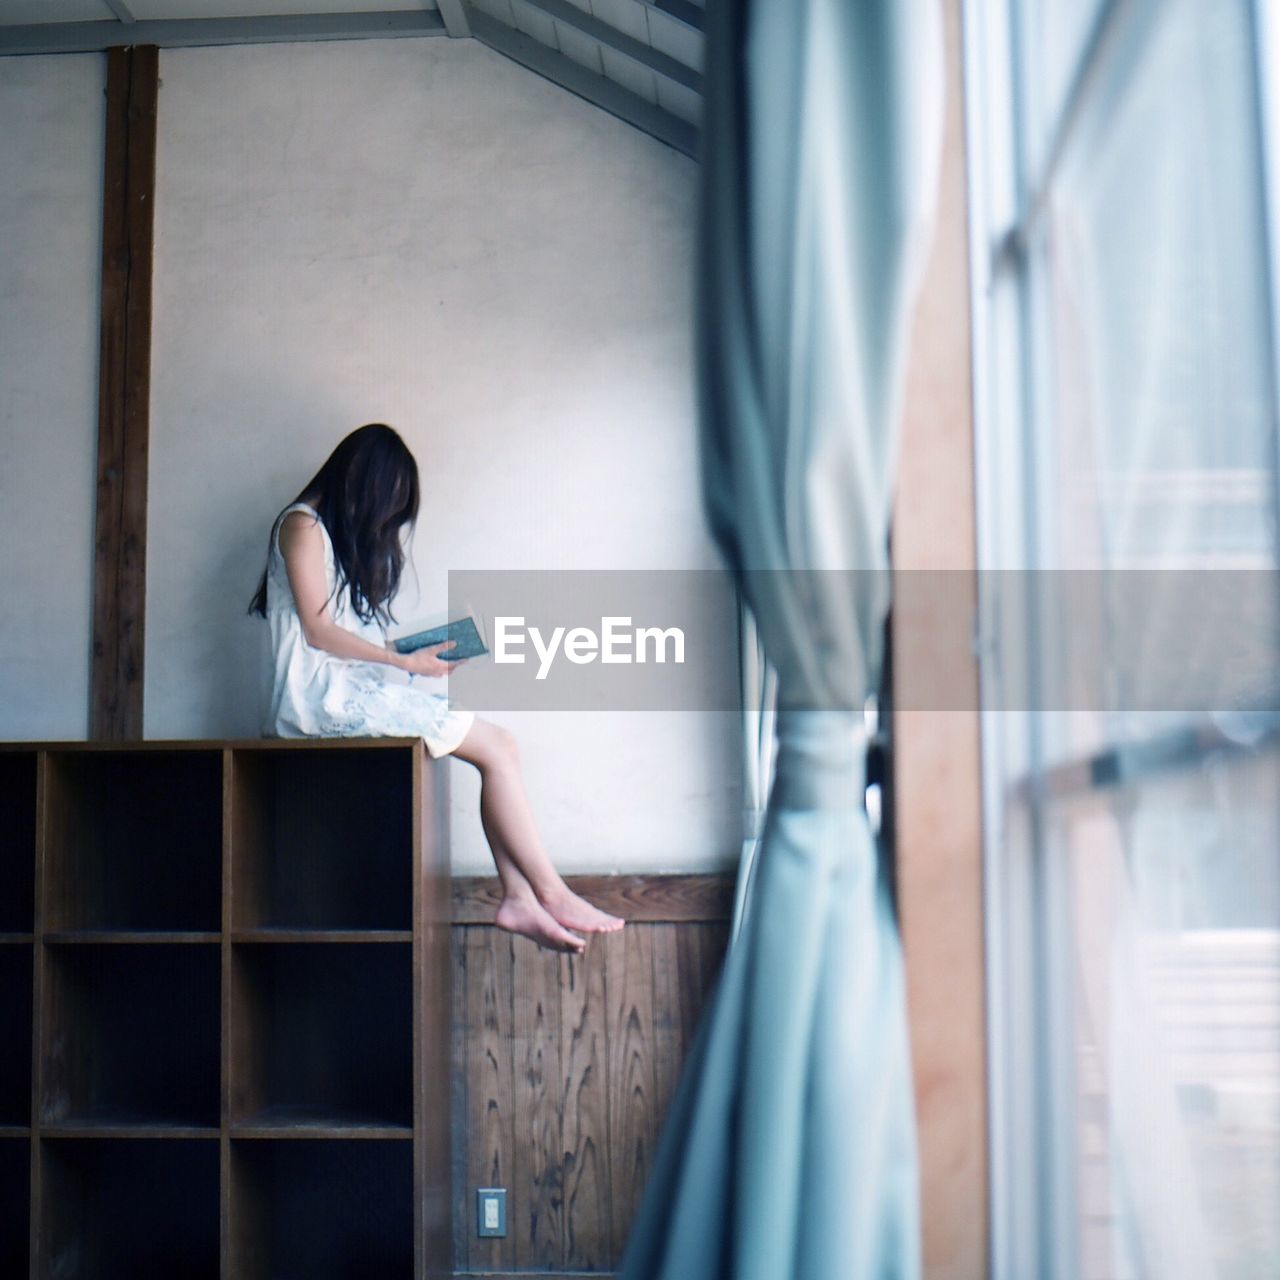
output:
[[[416,739],[0,746],[0,1275],[452,1271]]]

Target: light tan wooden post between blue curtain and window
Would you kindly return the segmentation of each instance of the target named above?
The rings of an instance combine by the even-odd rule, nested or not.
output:
[[[977,611],[960,0],[942,13],[938,228],[915,319],[893,512],[895,580],[937,577],[893,604],[893,809],[924,1276],[980,1280],[989,1245],[978,668],[954,639],[969,635]],[[950,673],[942,684],[940,669]],[[968,709],[936,708],[920,692],[931,685]]]

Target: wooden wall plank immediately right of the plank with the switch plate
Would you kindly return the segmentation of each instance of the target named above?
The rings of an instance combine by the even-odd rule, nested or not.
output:
[[[515,1066],[516,1187],[508,1201],[516,1266],[547,1271],[564,1252],[561,1146],[559,955],[513,938],[512,1062]]]

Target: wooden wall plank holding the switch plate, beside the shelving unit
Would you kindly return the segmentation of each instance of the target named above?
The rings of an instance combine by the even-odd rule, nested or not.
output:
[[[475,1189],[516,1188],[516,1124],[512,1111],[512,940],[499,929],[466,931],[466,1009],[479,1020],[467,1073],[467,1265],[472,1271],[512,1271],[516,1266],[515,1212],[507,1206],[507,1235],[480,1239],[475,1234]]]

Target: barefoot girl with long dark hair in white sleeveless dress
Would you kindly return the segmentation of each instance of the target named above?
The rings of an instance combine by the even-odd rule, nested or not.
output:
[[[276,517],[266,568],[250,604],[271,627],[271,705],[280,737],[421,737],[433,756],[480,771],[480,820],[502,879],[495,923],[544,947],[581,954],[584,933],[623,920],[573,893],[543,850],[525,795],[516,740],[444,694],[392,668],[439,678],[448,644],[399,654],[385,637],[404,564],[402,535],[417,520],[417,463],[381,422],[352,431]],[[451,641],[452,643],[452,641]]]

